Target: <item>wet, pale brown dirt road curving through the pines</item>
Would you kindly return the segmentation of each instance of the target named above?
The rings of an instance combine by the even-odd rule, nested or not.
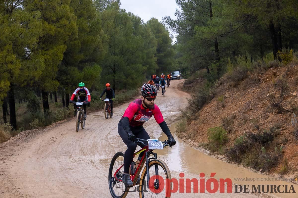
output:
[[[188,95],[171,82],[166,95],[159,94],[156,104],[165,121],[173,124],[179,116],[179,107],[187,105]],[[116,96],[117,99],[117,96]],[[114,108],[113,118],[106,120],[103,111],[88,114],[86,128],[75,131],[75,119],[44,130],[22,132],[0,145],[0,197],[111,197],[108,188],[108,168],[117,151],[126,146],[117,132],[117,124],[129,103]],[[150,137],[161,136],[161,129],[152,118],[145,125]],[[165,139],[165,137],[162,137]],[[181,165],[191,164],[194,153],[187,154],[186,147],[176,137],[176,149],[165,150],[159,158],[166,161],[172,178],[200,178],[201,171],[188,170]],[[195,151],[199,152],[199,151]],[[208,164],[206,164],[208,167]],[[200,169],[200,167],[198,167]],[[210,174],[207,173],[207,174]],[[208,179],[208,176],[206,175]],[[130,192],[127,197],[138,197]],[[255,197],[254,194],[175,193],[172,197]],[[266,196],[268,197],[268,196]]]

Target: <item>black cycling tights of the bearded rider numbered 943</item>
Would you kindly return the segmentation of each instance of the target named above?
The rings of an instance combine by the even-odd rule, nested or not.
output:
[[[145,140],[150,139],[150,136],[148,135],[148,133],[146,132],[143,126],[130,127],[130,129],[136,135],[136,137],[140,139],[145,139]],[[134,143],[133,141],[128,140],[127,134],[122,127],[121,121],[118,124],[118,133],[122,138],[123,142],[127,145],[127,150],[124,153],[124,172],[128,172],[129,166],[132,160],[134,159],[134,152],[136,151],[137,143]],[[144,143],[147,145],[147,141]],[[142,147],[144,145],[139,145],[139,146]],[[139,154],[139,160],[141,159],[143,153],[144,151]]]

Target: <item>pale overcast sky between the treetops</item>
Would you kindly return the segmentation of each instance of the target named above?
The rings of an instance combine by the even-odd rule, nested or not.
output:
[[[120,2],[120,8],[138,15],[145,23],[152,17],[159,21],[165,16],[176,19],[174,14],[178,6],[175,0],[120,0]],[[175,35],[173,36],[175,42]]]

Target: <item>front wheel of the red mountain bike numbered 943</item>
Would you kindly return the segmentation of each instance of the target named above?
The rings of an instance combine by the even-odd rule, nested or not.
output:
[[[139,186],[140,198],[154,197],[154,198],[170,198],[172,183],[170,170],[164,161],[153,159],[149,162],[149,189],[147,189],[147,168],[142,172]]]

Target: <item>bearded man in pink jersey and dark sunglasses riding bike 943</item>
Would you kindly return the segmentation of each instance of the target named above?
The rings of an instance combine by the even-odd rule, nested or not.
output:
[[[133,182],[129,176],[129,167],[134,159],[134,151],[136,150],[137,143],[134,142],[135,138],[150,139],[150,136],[143,127],[143,124],[154,116],[155,121],[159,124],[164,134],[168,137],[170,146],[176,144],[167,123],[162,117],[159,107],[154,104],[157,96],[157,90],[153,85],[144,84],[141,88],[141,99],[136,99],[131,102],[124,112],[124,115],[118,123],[118,133],[123,142],[127,145],[127,150],[124,153],[124,173],[122,181],[125,186],[132,186]],[[144,142],[147,144],[147,142]],[[142,146],[142,145],[141,145]],[[136,161],[136,167],[142,159],[143,152],[139,154]],[[135,167],[135,168],[136,168]]]

